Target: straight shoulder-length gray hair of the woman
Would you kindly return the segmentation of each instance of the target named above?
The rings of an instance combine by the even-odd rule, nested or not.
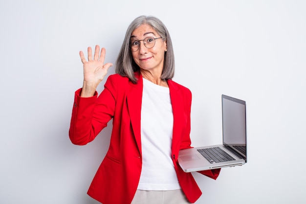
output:
[[[139,16],[134,19],[128,27],[123,44],[118,54],[118,58],[116,60],[116,73],[120,74],[121,76],[127,76],[134,84],[137,83],[137,78],[135,77],[134,72],[140,70],[140,68],[132,57],[130,39],[131,33],[142,24],[151,25],[160,35],[160,37],[162,37],[162,40],[167,42],[167,51],[165,51],[164,67],[161,74],[161,79],[172,79],[174,76],[175,61],[170,34],[164,23],[153,16]]]

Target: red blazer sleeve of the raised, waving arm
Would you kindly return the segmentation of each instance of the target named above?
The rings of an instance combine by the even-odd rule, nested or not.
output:
[[[109,78],[99,96],[95,92],[94,96],[84,98],[80,96],[82,89],[75,91],[69,128],[69,138],[73,144],[91,142],[113,117],[115,89],[108,89],[108,86],[114,87]]]

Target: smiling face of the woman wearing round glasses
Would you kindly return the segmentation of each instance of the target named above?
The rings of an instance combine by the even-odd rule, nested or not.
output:
[[[140,43],[138,50],[132,51],[133,59],[141,69],[161,75],[167,50],[166,41],[161,38],[155,39],[155,45],[148,48],[143,41],[147,37],[159,38],[161,36],[148,24],[140,25],[131,33],[131,42],[141,40],[138,42]]]

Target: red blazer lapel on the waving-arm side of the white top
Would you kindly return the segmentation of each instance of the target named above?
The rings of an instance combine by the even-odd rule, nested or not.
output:
[[[141,102],[142,102],[142,89],[143,82],[142,76],[136,73],[138,77],[137,84],[130,83],[130,91],[127,94],[128,110],[131,118],[131,126],[135,136],[135,140],[138,146],[140,155],[141,153],[141,131],[140,131],[140,122],[141,122]]]

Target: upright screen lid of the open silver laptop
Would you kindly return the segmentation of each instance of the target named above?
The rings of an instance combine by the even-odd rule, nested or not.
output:
[[[222,95],[223,145],[238,150],[246,160],[245,101]]]

